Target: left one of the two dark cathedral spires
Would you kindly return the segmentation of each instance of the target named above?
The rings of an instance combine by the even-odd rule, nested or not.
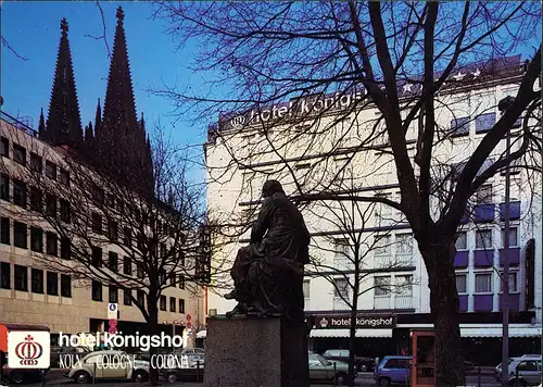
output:
[[[65,18],[61,21],[61,30],[49,114],[41,133],[43,139],[53,145],[78,148],[83,141],[83,128]]]

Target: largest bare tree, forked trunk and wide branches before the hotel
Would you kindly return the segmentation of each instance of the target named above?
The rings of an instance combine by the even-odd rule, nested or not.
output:
[[[275,160],[291,174],[301,200],[376,202],[405,214],[429,276],[438,385],[463,384],[456,229],[469,198],[506,165],[515,162],[525,180],[535,180],[541,171],[541,127],[534,120],[541,109],[541,4],[162,2],[155,15],[168,21],[167,32],[180,47],[197,39],[194,70],[210,79],[205,95],[190,88],[159,93],[172,98],[180,113],[197,111],[202,120],[220,114],[210,140],[228,150],[225,171],[262,170]],[[528,45],[536,49],[525,65],[504,60]],[[498,67],[502,78],[517,85],[515,100],[462,153],[455,137],[468,124],[445,112],[462,104],[455,95],[498,79]],[[240,118],[224,112],[247,113]],[[520,116],[521,128],[510,130]],[[352,120],[351,130],[334,136],[345,118]],[[260,136],[258,152],[239,149],[247,128]],[[513,151],[506,157],[503,140],[509,132]],[[311,175],[339,153],[350,154],[354,164],[372,152],[388,157],[399,200],[296,179],[300,160],[311,160]],[[455,179],[447,165],[452,154],[462,165]],[[362,166],[375,172],[382,165]]]

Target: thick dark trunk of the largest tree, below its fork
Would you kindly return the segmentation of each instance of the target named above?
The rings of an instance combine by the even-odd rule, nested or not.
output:
[[[443,237],[443,234],[441,236]],[[424,245],[426,246],[420,246],[419,242],[428,269],[430,309],[435,335],[437,385],[440,387],[465,385],[458,323],[458,292],[453,264],[456,253],[454,239],[434,239]]]

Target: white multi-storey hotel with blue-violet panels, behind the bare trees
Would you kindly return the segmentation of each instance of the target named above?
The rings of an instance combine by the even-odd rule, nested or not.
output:
[[[456,77],[470,79],[453,92],[444,92],[443,108],[438,108],[437,120],[440,125],[455,130],[452,141],[435,146],[434,154],[443,164],[462,165],[475,147],[484,137],[500,116],[497,102],[506,96],[516,96],[522,65],[519,57],[509,58],[493,66],[466,66]],[[446,89],[445,89],[446,90]],[[404,95],[414,90],[403,87]],[[327,98],[327,97],[325,97]],[[352,95],[352,99],[357,98]],[[349,103],[344,100],[345,104]],[[351,100],[352,102],[352,100]],[[267,115],[289,113],[289,104],[274,107]],[[235,220],[256,209],[263,182],[276,178],[286,187],[287,195],[294,191],[292,177],[277,154],[269,152],[270,139],[278,153],[292,167],[304,188],[316,187],[326,179],[325,175],[336,171],[352,155],[349,147],[356,145],[357,136],[367,129],[366,124],[378,116],[375,107],[351,112],[340,122],[337,117],[341,109],[321,116],[317,126],[324,127],[333,121],[336,128],[327,132],[343,136],[342,148],[331,148],[333,139],[323,138],[318,146],[307,152],[311,139],[295,136],[296,126],[292,125],[292,137],[274,139],[274,129],[264,134],[261,125],[239,125],[243,118],[231,116],[210,127],[205,145],[207,163],[207,203],[214,213]],[[245,116],[250,117],[250,113]],[[332,120],[336,118],[336,120]],[[245,120],[248,122],[249,120]],[[533,124],[538,124],[536,121]],[[288,123],[286,123],[288,125]],[[296,123],[296,125],[300,125]],[[299,126],[298,126],[299,127]],[[415,127],[409,128],[407,139],[415,140]],[[281,132],[281,136],[287,136]],[[382,136],[377,138],[380,147],[386,148]],[[377,143],[377,142],[376,142]],[[514,143],[513,147],[517,145]],[[413,148],[415,148],[413,146]],[[252,150],[251,150],[252,149]],[[372,150],[358,151],[352,159],[354,188],[370,195],[387,195],[394,199],[399,196],[395,168],[390,155]],[[505,149],[505,141],[491,154],[497,158]],[[319,154],[332,152],[333,158],[323,161]],[[414,154],[414,149],[409,151]],[[251,154],[251,158],[248,158]],[[243,160],[243,165],[232,160]],[[495,160],[495,159],[494,159]],[[541,165],[541,164],[540,164]],[[457,275],[457,289],[460,308],[460,332],[465,341],[465,355],[477,364],[495,365],[500,362],[502,313],[501,277],[503,267],[502,228],[504,210],[503,174],[491,178],[471,200],[470,212],[463,220],[457,240],[457,254],[454,261]],[[312,186],[313,184],[313,186]],[[310,188],[311,189],[311,188]],[[528,176],[525,171],[512,168],[510,176],[510,299],[509,317],[510,354],[538,353],[541,351],[542,323],[542,228],[541,228],[541,178]],[[320,211],[320,213],[319,213]],[[312,255],[336,270],[345,267],[341,253],[344,236],[329,221],[327,209],[305,208],[304,219],[312,233]],[[359,220],[358,220],[359,221]],[[365,235],[368,240],[379,237],[379,246],[366,251],[365,269],[384,267],[380,273],[367,276],[363,288],[368,289],[358,298],[358,315],[364,319],[383,319],[391,324],[377,324],[376,327],[361,327],[356,332],[356,352],[361,355],[382,357],[394,354],[408,347],[409,328],[431,327],[428,276],[425,263],[411,235],[408,224],[390,208],[375,207],[366,219]],[[213,263],[216,269],[226,270],[236,257],[237,250],[245,245],[249,233],[238,239],[214,240],[219,246],[214,249]],[[315,246],[314,246],[315,245]],[[317,249],[316,245],[319,246]],[[387,265],[387,262],[395,262]],[[315,267],[306,266],[304,283],[305,312],[314,319],[311,332],[311,346],[316,351],[345,348],[348,329],[332,328],[331,319],[348,317],[349,310],[339,298],[338,287],[342,286],[341,275],[316,274]],[[400,291],[374,289],[376,284],[412,280],[411,287]],[[349,291],[349,290],[346,290]],[[233,308],[220,295],[209,292],[207,308],[216,309],[218,314]],[[393,317],[393,319],[390,319]],[[323,324],[320,323],[323,322]],[[484,348],[484,351],[482,350]],[[485,353],[484,359],[477,358]],[[494,355],[495,354],[495,355]]]

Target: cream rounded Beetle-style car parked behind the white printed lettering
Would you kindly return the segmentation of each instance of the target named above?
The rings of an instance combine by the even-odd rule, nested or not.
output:
[[[149,378],[149,362],[116,350],[96,351],[75,363],[64,377],[79,384],[92,379],[132,379],[146,382]]]

